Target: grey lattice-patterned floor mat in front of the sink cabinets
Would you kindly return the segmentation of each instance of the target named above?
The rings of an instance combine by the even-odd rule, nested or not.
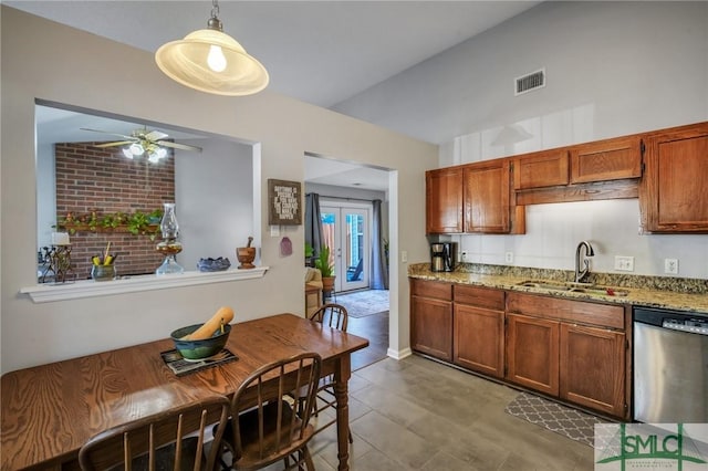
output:
[[[517,396],[504,411],[589,447],[593,446],[595,423],[607,422],[593,415],[528,393]]]

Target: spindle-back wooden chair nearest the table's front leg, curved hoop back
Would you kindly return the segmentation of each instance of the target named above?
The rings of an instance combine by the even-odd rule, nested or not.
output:
[[[231,454],[230,468],[258,470],[283,460],[287,470],[303,463],[314,470],[308,450],[314,428],[309,422],[321,370],[320,355],[303,353],[264,365],[241,384],[221,439],[221,451]],[[306,391],[302,407],[292,399],[298,391]],[[227,465],[223,456],[220,462]]]

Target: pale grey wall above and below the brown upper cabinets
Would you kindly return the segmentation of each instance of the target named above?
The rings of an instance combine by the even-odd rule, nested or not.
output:
[[[513,96],[541,67],[546,86]],[[335,109],[440,144],[439,166],[708,119],[708,2],[544,2]],[[418,109],[425,109],[420,116]],[[504,127],[525,140],[496,143]],[[525,236],[464,236],[471,261],[572,270],[575,245],[598,248],[593,270],[635,257],[635,274],[708,278],[708,236],[639,236],[637,200],[527,208]]]

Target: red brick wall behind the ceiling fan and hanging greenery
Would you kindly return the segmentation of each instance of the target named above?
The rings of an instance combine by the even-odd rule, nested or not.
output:
[[[144,157],[126,158],[121,147],[97,148],[92,143],[54,145],[56,171],[56,218],[136,210],[148,213],[162,209],[163,202],[175,201],[175,158],[149,164]],[[91,258],[102,253],[111,242],[117,255],[118,275],[155,273],[163,257],[155,251],[155,240],[147,234],[134,236],[118,230],[83,230],[71,234],[72,265],[76,279],[90,278]]]

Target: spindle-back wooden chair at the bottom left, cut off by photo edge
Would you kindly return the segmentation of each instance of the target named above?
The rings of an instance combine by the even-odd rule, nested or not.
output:
[[[230,406],[228,398],[214,396],[104,430],[79,451],[81,469],[211,470]],[[214,444],[205,452],[206,432],[215,422]]]

